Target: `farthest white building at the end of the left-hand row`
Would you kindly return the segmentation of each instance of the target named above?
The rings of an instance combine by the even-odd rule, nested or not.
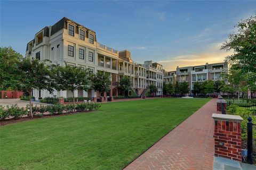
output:
[[[157,95],[163,95],[163,66],[153,61],[145,61],[143,66],[146,67],[147,86],[155,84]]]

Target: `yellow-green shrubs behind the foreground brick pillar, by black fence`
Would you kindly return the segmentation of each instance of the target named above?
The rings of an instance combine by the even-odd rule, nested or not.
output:
[[[243,122],[241,123],[241,133],[242,133],[242,140],[247,139],[247,118],[252,117],[252,120],[256,120],[256,116],[253,115],[252,111],[245,107],[239,107],[237,105],[230,105],[227,107],[227,114],[230,115],[239,115],[243,118]],[[252,121],[253,122],[253,121]],[[253,131],[253,138],[256,138],[256,131]]]

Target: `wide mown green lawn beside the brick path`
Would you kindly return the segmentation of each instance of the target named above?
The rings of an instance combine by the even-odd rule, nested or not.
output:
[[[2,126],[0,169],[122,169],[209,100],[105,103],[97,112]]]

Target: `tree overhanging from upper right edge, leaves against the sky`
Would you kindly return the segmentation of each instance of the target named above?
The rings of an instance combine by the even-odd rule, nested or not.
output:
[[[230,34],[221,46],[223,50],[234,50],[226,61],[241,65],[243,72],[256,73],[256,15],[242,20],[235,27],[238,32]]]

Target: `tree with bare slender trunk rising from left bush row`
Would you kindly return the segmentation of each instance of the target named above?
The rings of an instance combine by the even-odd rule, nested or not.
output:
[[[30,58],[23,58],[17,66],[19,74],[17,88],[28,92],[30,115],[33,117],[31,106],[32,90],[45,89],[52,93],[54,90],[52,72],[50,66],[46,65],[44,61],[30,60]]]

